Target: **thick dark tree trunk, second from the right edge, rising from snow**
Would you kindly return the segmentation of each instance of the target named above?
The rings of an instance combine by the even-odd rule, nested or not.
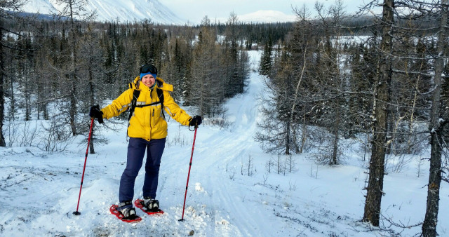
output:
[[[389,103],[389,84],[391,81],[391,24],[394,21],[393,15],[394,0],[384,0],[382,11],[382,41],[380,50],[385,53],[385,57],[380,61],[378,83],[375,89],[374,101],[374,121],[373,121],[373,150],[370,160],[370,174],[368,187],[366,188],[365,212],[363,222],[370,222],[373,226],[379,226],[380,207],[382,201],[384,185],[384,161],[385,148],[387,142],[387,121]]]

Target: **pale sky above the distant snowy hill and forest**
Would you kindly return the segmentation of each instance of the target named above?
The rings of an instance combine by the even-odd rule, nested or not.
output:
[[[358,6],[367,0],[342,0],[347,13],[355,13]],[[314,8],[314,0],[159,0],[170,8],[175,15],[191,22],[201,22],[205,15],[211,20],[227,19],[234,11],[236,15],[253,13],[261,10],[281,11],[286,15],[294,15],[292,8],[305,6],[310,10]],[[329,6],[335,1],[319,1]]]

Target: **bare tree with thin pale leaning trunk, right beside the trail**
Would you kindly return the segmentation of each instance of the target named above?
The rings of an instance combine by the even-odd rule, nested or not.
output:
[[[302,152],[307,134],[307,114],[311,109],[311,103],[304,101],[316,92],[311,81],[314,81],[312,68],[316,65],[314,53],[319,39],[316,39],[307,21],[307,9],[296,10],[296,15],[300,20],[295,22],[291,39],[276,58],[274,68],[265,80],[264,93],[269,96],[262,100],[262,113],[266,117],[257,123],[260,132],[255,135],[255,140],[262,143],[264,151],[277,151],[278,154]],[[304,126],[298,132],[301,123]],[[299,133],[302,135],[301,146],[297,142]]]

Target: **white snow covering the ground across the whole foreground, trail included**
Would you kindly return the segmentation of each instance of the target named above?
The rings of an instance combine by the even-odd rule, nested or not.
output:
[[[255,59],[260,52],[249,53],[251,62],[258,65]],[[119,133],[105,133],[109,144],[98,144],[96,154],[88,154],[81,215],[72,212],[79,197],[85,136],[76,137],[62,152],[0,147],[0,236],[188,236],[192,231],[194,236],[391,235],[360,222],[367,161],[361,161],[356,149],[347,150],[345,165],[316,165],[306,153],[293,156],[295,172],[283,175],[265,170],[267,161],[277,156],[264,154],[253,140],[256,122],[264,119],[257,103],[262,81],[253,72],[247,92],[227,101],[229,128],[208,126],[207,121],[198,128],[185,222],[178,219],[182,217],[194,133],[173,120],[156,197],[165,214],[147,216],[137,210],[142,221],[128,224],[109,213],[109,207],[118,203],[119,180],[126,165],[123,122]],[[248,176],[250,158],[253,175]],[[419,233],[420,226],[400,229],[385,218],[405,225],[423,221],[429,164],[418,166],[419,158],[403,172],[390,172],[384,178],[381,224],[402,236]],[[418,169],[424,175],[417,177]],[[135,198],[142,196],[142,172],[135,182]],[[440,195],[437,231],[449,236],[449,214],[445,212],[449,208],[448,184],[441,184]]]

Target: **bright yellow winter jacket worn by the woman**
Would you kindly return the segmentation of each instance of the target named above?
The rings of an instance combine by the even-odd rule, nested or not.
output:
[[[167,114],[182,125],[189,125],[192,117],[175,103],[175,100],[173,100],[173,97],[169,93],[173,91],[173,85],[165,83],[158,77],[156,79],[156,86],[150,90],[144,83],[140,83],[140,76],[134,79],[134,83],[135,87],[140,90],[140,95],[137,100],[138,105],[158,102],[159,98],[157,97],[156,87],[160,88],[163,91],[163,108]],[[126,90],[112,104],[101,109],[103,118],[109,119],[126,111],[130,107],[133,99],[133,90],[133,88]],[[167,136],[167,122],[163,117],[161,108],[160,103],[147,107],[136,107],[129,121],[128,136],[143,138],[148,141],[165,138]]]

